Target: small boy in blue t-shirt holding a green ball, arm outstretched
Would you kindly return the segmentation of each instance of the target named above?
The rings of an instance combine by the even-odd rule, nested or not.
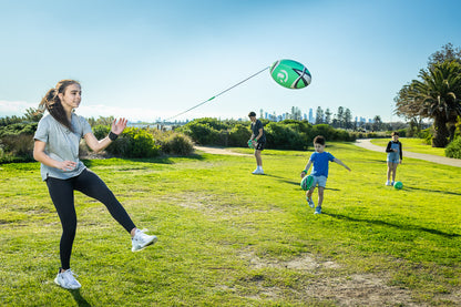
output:
[[[342,165],[350,172],[350,168],[344,164],[339,158],[336,158],[332,154],[325,151],[325,137],[321,135],[317,135],[314,139],[314,149],[316,150],[309,158],[309,162],[306,165],[306,168],[301,172],[301,178],[307,175],[307,171],[311,164],[313,171],[310,175],[314,177],[313,185],[309,191],[306,192],[306,199],[309,203],[309,206],[314,208],[315,204],[313,201],[313,193],[316,186],[318,185],[318,204],[314,214],[321,213],[321,204],[324,202],[324,190],[327,186],[327,178],[328,178],[328,165],[329,162],[336,162],[339,165]]]

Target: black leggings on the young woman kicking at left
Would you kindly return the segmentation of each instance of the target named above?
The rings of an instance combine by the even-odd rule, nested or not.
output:
[[[76,229],[76,214],[73,201],[74,190],[103,203],[126,232],[130,233],[135,227],[122,204],[115,198],[105,183],[89,170],[84,170],[79,176],[69,180],[48,177],[47,185],[62,225],[60,256],[63,269],[70,268],[72,244]]]

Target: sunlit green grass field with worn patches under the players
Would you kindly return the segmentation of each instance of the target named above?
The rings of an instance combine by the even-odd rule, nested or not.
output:
[[[397,191],[385,153],[327,150],[352,172],[330,164],[321,215],[299,187],[308,152],[264,151],[264,176],[253,156],[86,161],[158,243],[132,253],[75,193],[73,291],[53,283],[61,226],[39,164],[0,165],[1,305],[460,306],[461,168],[406,158]]]

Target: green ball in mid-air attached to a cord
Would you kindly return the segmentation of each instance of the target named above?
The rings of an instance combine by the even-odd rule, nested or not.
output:
[[[270,66],[270,76],[287,89],[303,89],[310,84],[311,75],[305,65],[294,60],[278,60]]]

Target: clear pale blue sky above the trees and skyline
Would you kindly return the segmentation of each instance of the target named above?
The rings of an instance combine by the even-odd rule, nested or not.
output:
[[[397,121],[401,86],[442,45],[461,47],[460,10],[458,0],[0,0],[0,116],[37,108],[71,78],[82,83],[79,114],[152,122],[293,59],[309,86],[264,72],[176,119],[344,106]]]

